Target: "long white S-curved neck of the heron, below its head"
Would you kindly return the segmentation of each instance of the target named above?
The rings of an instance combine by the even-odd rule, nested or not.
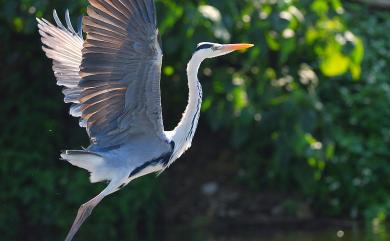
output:
[[[197,54],[193,55],[187,65],[188,76],[188,104],[177,127],[169,133],[171,140],[175,143],[171,162],[179,158],[188,148],[191,147],[202,105],[202,86],[198,80],[198,71],[203,58]]]

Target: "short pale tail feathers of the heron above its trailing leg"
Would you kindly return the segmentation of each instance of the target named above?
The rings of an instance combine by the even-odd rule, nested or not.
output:
[[[92,183],[108,180],[104,172],[104,158],[96,153],[82,150],[67,150],[61,153],[61,158],[74,166],[89,171]]]

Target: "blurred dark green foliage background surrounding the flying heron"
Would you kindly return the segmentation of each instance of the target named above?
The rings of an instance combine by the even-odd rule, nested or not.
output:
[[[106,198],[78,238],[328,223],[319,220],[381,229],[390,215],[390,10],[340,0],[156,4],[167,130],[185,108],[198,42],[256,46],[203,64],[193,148],[160,177]],[[62,102],[35,21],[69,8],[76,22],[86,6],[0,0],[1,240],[62,240],[79,205],[105,185],[59,160],[88,139]]]

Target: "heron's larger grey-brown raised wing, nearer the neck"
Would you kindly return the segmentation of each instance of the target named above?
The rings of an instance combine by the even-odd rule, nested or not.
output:
[[[166,141],[153,0],[89,0],[80,68],[82,119],[93,143],[150,135]]]

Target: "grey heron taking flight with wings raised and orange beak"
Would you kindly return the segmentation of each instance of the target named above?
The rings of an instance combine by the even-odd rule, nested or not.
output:
[[[67,150],[61,158],[90,172],[107,187],[81,205],[66,237],[73,239],[93,208],[107,195],[149,173],[161,173],[190,146],[200,114],[200,64],[252,44],[198,44],[187,66],[189,97],[183,116],[165,131],[161,111],[162,50],[153,0],[88,0],[87,16],[73,28],[37,19],[43,51],[53,60],[57,84],[70,114],[80,118],[90,146]],[[86,37],[84,39],[83,32]]]

